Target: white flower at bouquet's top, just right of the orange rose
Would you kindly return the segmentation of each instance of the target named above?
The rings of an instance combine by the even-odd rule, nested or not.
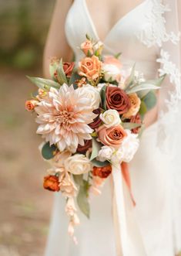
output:
[[[118,67],[112,64],[103,64],[102,70],[105,72],[104,79],[106,81],[119,80],[121,77],[121,72]]]

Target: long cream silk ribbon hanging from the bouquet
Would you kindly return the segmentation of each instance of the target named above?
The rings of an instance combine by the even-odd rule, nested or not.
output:
[[[128,171],[128,169],[126,170]],[[142,237],[134,217],[130,186],[122,176],[120,164],[112,165],[113,217],[117,256],[146,256]]]

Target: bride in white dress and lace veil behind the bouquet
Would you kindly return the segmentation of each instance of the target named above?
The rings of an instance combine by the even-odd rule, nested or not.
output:
[[[180,6],[179,6],[180,5]],[[45,256],[174,256],[181,251],[181,145],[179,108],[180,0],[57,0],[45,46],[44,72],[52,56],[71,61],[82,57],[78,46],[85,34],[104,44],[105,54],[122,53],[123,68],[132,67],[148,79],[166,73],[156,107],[146,115],[139,151],[129,164],[136,207],[126,210],[117,230],[112,213],[112,180],[101,196],[92,196],[91,217],[81,213],[79,244],[67,235],[64,201],[55,194]],[[114,225],[115,224],[115,225]],[[136,228],[135,228],[136,227]]]

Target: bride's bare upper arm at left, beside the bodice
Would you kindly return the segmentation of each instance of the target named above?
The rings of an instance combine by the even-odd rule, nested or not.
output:
[[[65,38],[65,18],[72,2],[72,0],[57,0],[56,2],[43,56],[45,77],[49,77],[49,61],[52,56],[62,57],[65,61],[72,59],[72,50]]]

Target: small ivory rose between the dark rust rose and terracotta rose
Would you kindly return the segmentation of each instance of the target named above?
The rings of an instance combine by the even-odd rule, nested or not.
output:
[[[105,111],[103,114],[100,114],[100,118],[107,128],[120,125],[121,123],[119,113],[115,109],[109,109],[108,111]]]

